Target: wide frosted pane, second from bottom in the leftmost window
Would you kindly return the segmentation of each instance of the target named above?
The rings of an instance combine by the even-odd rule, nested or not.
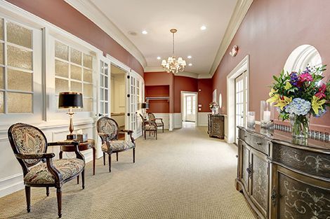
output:
[[[32,92],[32,73],[7,69],[8,90]]]

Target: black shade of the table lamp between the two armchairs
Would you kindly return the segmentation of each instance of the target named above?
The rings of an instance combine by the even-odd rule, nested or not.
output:
[[[78,92],[60,92],[58,108],[83,108],[82,94]]]

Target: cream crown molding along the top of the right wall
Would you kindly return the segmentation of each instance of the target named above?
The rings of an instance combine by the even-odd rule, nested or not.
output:
[[[227,48],[229,47],[232,39],[234,38],[239,26],[241,25],[246,13],[248,12],[253,0],[238,0],[234,9],[234,13],[232,13],[232,17],[230,18],[230,22],[225,31],[225,35],[223,36],[223,40],[220,43],[220,47],[216,54],[216,58],[213,61],[211,66],[211,70],[209,71],[209,75],[213,77],[213,74],[216,72],[221,59],[225,55]]]

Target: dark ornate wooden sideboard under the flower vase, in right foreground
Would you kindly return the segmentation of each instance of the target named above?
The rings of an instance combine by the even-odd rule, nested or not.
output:
[[[239,127],[236,188],[258,218],[330,218],[330,143]]]

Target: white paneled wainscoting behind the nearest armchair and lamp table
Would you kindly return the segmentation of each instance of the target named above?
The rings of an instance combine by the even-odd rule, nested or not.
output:
[[[95,122],[90,119],[89,122],[79,122],[79,120],[74,120],[74,129],[82,129],[84,133],[88,134],[88,139],[95,139],[96,145],[98,145],[98,138],[95,136]],[[86,120],[85,120],[86,121]],[[36,125],[40,127],[41,131],[46,135],[47,141],[63,141],[68,134],[68,123],[65,121],[63,124],[58,124],[58,127],[53,127],[53,124],[49,125]],[[13,154],[10,143],[7,138],[6,131],[1,129],[0,133],[0,197],[9,195],[18,190],[24,188],[23,177],[22,177],[22,167],[18,163],[18,160]],[[48,153],[55,153],[54,159],[58,159],[58,153],[60,152],[59,147],[50,147],[47,150]],[[86,162],[91,162],[93,160],[92,150],[85,150],[81,152]],[[63,153],[63,157],[75,157],[74,153]],[[8,168],[10,167],[10,168]]]

